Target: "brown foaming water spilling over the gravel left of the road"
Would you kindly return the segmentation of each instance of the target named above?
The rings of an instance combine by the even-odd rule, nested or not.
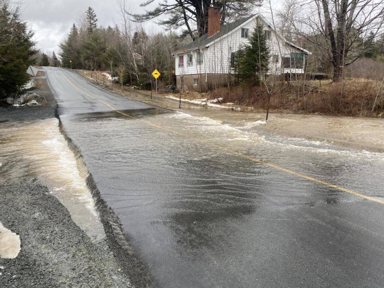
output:
[[[86,186],[88,172],[60,133],[58,119],[2,123],[0,147],[0,184],[41,180],[94,242],[105,237]]]

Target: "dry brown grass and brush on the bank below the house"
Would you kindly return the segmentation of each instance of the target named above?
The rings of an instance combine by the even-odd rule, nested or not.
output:
[[[377,81],[369,79],[346,79],[343,83],[322,82],[322,86],[310,81],[278,83],[271,96],[270,109],[295,113],[321,113],[328,115],[378,116],[384,115],[384,87],[377,94]],[[318,82],[318,81],[317,81]],[[303,85],[305,84],[305,85]],[[266,109],[268,93],[265,87],[238,85],[212,91],[211,98],[223,97],[224,102],[233,102],[255,109]]]

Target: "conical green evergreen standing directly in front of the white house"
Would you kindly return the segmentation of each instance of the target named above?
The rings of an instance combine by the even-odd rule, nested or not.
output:
[[[255,30],[249,39],[249,44],[242,49],[240,59],[240,78],[243,80],[253,79],[255,84],[259,83],[268,71],[270,62],[270,49],[264,33],[262,20],[257,18]]]

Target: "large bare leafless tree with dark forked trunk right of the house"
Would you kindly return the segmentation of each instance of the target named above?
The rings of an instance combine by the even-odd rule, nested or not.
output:
[[[344,67],[352,64],[366,50],[369,31],[382,33],[384,2],[381,0],[308,0],[302,8],[307,13],[300,22],[306,25],[306,40],[322,51],[333,64],[333,81],[343,78]]]

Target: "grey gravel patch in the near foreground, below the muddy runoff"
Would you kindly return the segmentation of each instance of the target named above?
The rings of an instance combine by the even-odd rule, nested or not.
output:
[[[2,185],[0,195],[0,219],[21,240],[16,258],[0,259],[0,287],[131,287],[106,243],[92,243],[43,184]]]

